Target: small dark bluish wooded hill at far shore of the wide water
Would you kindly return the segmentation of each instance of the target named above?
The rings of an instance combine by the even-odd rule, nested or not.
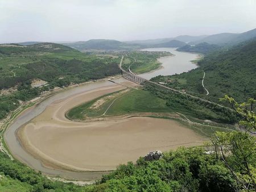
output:
[[[197,52],[197,53],[209,53],[215,51],[219,48],[218,45],[209,44],[209,43],[199,43],[197,45],[184,45],[183,47],[177,48],[177,51],[186,51],[186,52]]]

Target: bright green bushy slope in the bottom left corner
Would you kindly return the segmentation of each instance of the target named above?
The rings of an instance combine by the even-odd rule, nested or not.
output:
[[[51,181],[0,152],[0,191],[82,191],[72,183]]]

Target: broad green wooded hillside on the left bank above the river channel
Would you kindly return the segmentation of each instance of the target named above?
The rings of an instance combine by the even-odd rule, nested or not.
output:
[[[120,60],[118,56],[89,55],[52,43],[0,45],[0,90],[15,89],[0,94],[0,119],[42,91],[118,74]],[[32,87],[34,79],[48,85]]]

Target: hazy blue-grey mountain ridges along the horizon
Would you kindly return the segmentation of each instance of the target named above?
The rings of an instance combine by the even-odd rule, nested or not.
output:
[[[77,49],[79,51],[129,51],[142,48],[159,48],[159,47],[184,47],[187,45],[197,45],[197,47],[184,47],[185,49],[198,49],[202,53],[206,53],[215,47],[209,44],[216,44],[218,46],[230,46],[247,41],[256,37],[256,28],[250,31],[243,32],[241,34],[234,33],[221,33],[214,35],[180,35],[171,38],[162,39],[148,39],[148,40],[135,40],[135,41],[118,41],[112,39],[91,39],[88,41],[77,41],[71,43],[61,43],[68,47]],[[35,45],[40,44],[39,41],[27,41],[17,43],[19,45]],[[208,44],[201,44],[208,43]],[[205,49],[205,50],[203,50]],[[208,51],[207,51],[208,50]],[[181,50],[180,50],[181,51]],[[206,52],[205,52],[206,51]]]

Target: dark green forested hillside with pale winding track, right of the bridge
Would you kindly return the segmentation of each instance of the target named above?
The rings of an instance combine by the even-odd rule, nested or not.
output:
[[[226,51],[216,51],[199,61],[199,68],[174,76],[153,78],[187,93],[218,101],[225,94],[238,101],[256,97],[256,40],[244,42]],[[202,79],[205,72],[204,85]],[[171,81],[170,81],[171,80]]]

